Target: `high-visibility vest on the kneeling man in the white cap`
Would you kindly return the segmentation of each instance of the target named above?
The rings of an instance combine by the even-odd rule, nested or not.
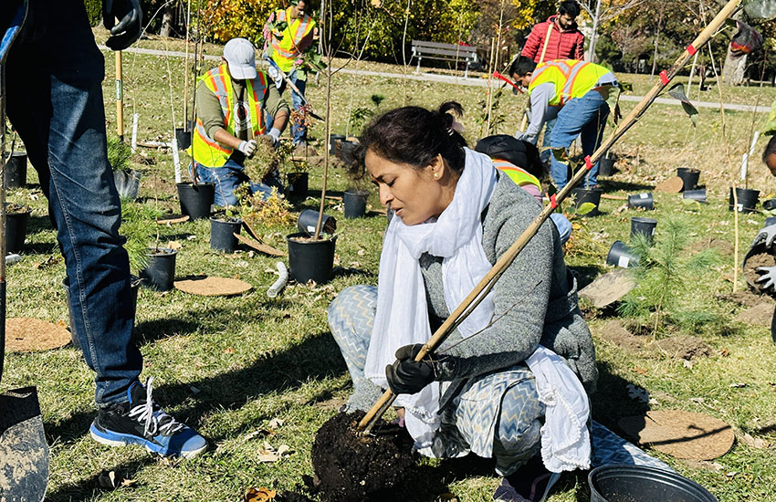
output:
[[[234,135],[236,130],[235,89],[232,87],[232,78],[229,77],[226,64],[211,69],[198,80],[204,82],[207,89],[210,89],[218,98],[224,115],[224,129],[229,134]],[[262,110],[266,89],[267,74],[263,71],[257,71],[256,78],[246,80],[246,93],[250,106],[250,127],[254,136],[264,134],[267,131],[267,126],[264,123],[264,110]],[[192,146],[189,149],[189,154],[194,158],[194,162],[200,163],[204,167],[222,167],[232,152],[234,149],[209,137],[207,131],[204,131],[202,120],[199,117],[196,118]]]

